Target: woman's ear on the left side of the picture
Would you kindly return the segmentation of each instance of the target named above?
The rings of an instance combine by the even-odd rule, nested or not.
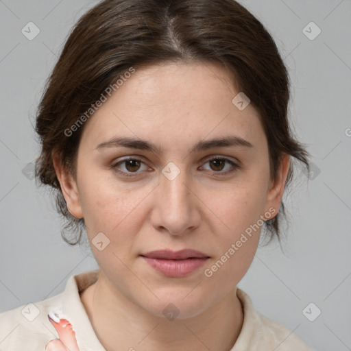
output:
[[[52,155],[53,168],[56,171],[58,181],[60,182],[62,195],[66,200],[67,209],[69,213],[75,218],[83,218],[82,207],[80,206],[80,197],[77,189],[77,184],[73,178],[73,175],[62,165],[60,158],[56,155]]]

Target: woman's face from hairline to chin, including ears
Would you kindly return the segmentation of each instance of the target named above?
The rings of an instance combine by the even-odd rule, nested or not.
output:
[[[278,212],[285,178],[269,182],[267,139],[238,93],[215,64],[149,66],[84,124],[67,206],[110,287],[153,315],[172,303],[191,317],[225,298]],[[245,142],[210,144],[220,138]],[[202,254],[145,258],[184,249]]]

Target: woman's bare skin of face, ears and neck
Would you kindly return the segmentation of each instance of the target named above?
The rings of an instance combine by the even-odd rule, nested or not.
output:
[[[69,212],[84,217],[99,265],[99,279],[81,299],[108,351],[115,351],[116,345],[118,350],[228,351],[237,340],[243,310],[235,289],[252,263],[261,228],[213,276],[206,277],[204,269],[269,208],[278,213],[289,155],[271,181],[267,138],[258,112],[252,104],[244,110],[232,104],[240,90],[229,77],[217,64],[167,63],[136,69],[84,124],[76,178],[53,158]],[[228,135],[240,136],[253,147],[189,152],[197,141]],[[113,136],[146,139],[161,153],[96,149]],[[139,167],[128,167],[127,162],[117,166],[132,177],[111,168],[126,156],[144,159]],[[232,166],[208,162],[209,156],[228,158],[241,167],[220,176]],[[162,174],[169,162],[180,170],[173,180]],[[110,240],[102,251],[91,243],[99,232]],[[163,276],[140,256],[183,248],[210,258],[182,278]],[[170,302],[180,312],[173,320],[162,314]]]

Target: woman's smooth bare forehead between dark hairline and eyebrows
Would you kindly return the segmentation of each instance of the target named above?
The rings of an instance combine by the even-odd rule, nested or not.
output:
[[[149,138],[160,145],[229,132],[251,140],[261,133],[264,138],[256,109],[249,104],[239,110],[233,104],[238,93],[228,72],[217,64],[143,67],[90,117],[84,134],[95,144],[116,135]]]

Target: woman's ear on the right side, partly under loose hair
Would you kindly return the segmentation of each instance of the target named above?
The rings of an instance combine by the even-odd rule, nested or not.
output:
[[[287,175],[290,166],[290,155],[284,154],[280,167],[277,171],[276,180],[271,182],[270,189],[267,193],[266,211],[273,207],[278,214],[280,203],[282,201],[282,194],[284,193],[285,182],[287,181]],[[272,217],[273,218],[273,217]]]

